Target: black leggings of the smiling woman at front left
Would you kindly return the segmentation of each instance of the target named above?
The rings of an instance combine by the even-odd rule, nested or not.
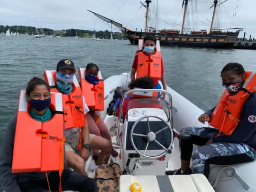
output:
[[[59,190],[59,172],[54,171],[48,175],[50,188],[52,191]],[[27,180],[19,183],[20,189],[23,192],[43,192],[49,191],[46,178],[43,180]],[[75,190],[83,192],[98,191],[95,181],[85,177],[77,172],[63,170],[61,175],[62,190]]]

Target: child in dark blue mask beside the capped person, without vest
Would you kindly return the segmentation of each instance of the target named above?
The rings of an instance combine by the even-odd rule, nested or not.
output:
[[[99,68],[96,64],[88,63],[86,65],[85,79],[88,83],[97,85],[99,83],[99,79],[97,78],[98,73]],[[89,125],[89,132],[91,134],[101,136],[102,138],[111,141],[110,132],[108,130],[107,125],[103,122],[103,119],[101,118],[99,111],[90,109],[90,111],[86,114],[86,117],[87,123]],[[112,149],[111,155],[117,157],[118,154],[114,149]],[[99,156],[98,151],[94,150],[94,156]]]

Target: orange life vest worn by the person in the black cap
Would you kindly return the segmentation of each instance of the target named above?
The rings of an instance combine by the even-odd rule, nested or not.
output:
[[[44,79],[50,85],[51,91],[59,93],[56,88],[56,71],[45,70]],[[62,94],[62,105],[65,113],[65,129],[83,127],[85,125],[85,115],[83,110],[82,91],[74,75],[73,90],[70,94]]]

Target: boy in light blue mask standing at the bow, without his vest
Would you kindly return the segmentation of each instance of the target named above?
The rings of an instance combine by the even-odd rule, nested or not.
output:
[[[145,55],[154,55],[155,54],[155,49],[156,49],[156,37],[153,34],[146,35],[144,37],[144,42],[143,42],[143,54]],[[137,71],[138,67],[138,55],[136,54],[133,60],[132,64],[132,70],[131,70],[131,82],[135,80],[135,73]],[[161,85],[158,83],[159,78],[151,77],[153,79],[153,84],[154,84],[154,89],[162,89]],[[166,80],[165,80],[165,75],[164,75],[164,63],[163,63],[163,58],[161,57],[161,82],[163,84],[163,89],[167,90],[166,86]],[[158,95],[159,97],[160,95]],[[165,97],[165,94],[162,94],[162,97]]]

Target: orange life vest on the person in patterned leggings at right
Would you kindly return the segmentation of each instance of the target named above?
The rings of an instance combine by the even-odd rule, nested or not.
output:
[[[225,90],[210,118],[210,125],[227,135],[232,134],[238,123],[241,122],[239,118],[249,94],[256,92],[255,73],[246,71],[244,75],[243,90],[238,91],[235,95]]]

